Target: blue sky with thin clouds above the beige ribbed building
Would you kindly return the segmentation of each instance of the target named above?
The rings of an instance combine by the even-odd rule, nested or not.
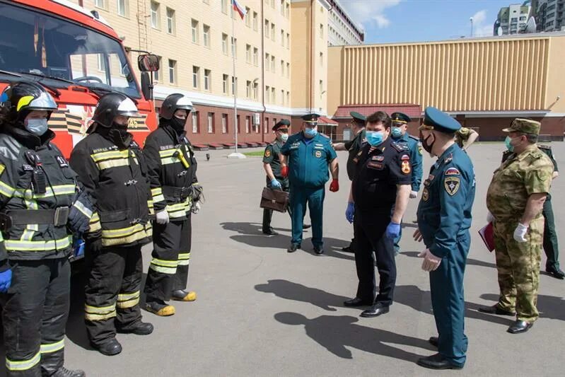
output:
[[[512,0],[339,0],[365,29],[366,43],[446,40],[492,35],[499,9]]]

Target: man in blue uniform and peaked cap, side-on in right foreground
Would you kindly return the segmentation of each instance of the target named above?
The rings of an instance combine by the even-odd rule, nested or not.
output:
[[[431,369],[461,369],[465,365],[465,298],[463,274],[470,248],[469,228],[474,200],[474,170],[467,153],[453,140],[461,125],[436,108],[426,108],[420,139],[424,149],[438,156],[424,181],[414,239],[426,250],[422,269],[430,272],[431,304],[438,337],[429,342],[438,354],[418,360]]]

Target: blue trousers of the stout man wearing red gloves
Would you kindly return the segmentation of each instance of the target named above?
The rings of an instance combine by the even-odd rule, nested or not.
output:
[[[292,243],[302,243],[302,228],[306,204],[310,210],[310,221],[312,222],[312,244],[314,247],[322,248],[322,218],[324,211],[325,187],[301,187],[291,185],[290,205],[292,220]]]

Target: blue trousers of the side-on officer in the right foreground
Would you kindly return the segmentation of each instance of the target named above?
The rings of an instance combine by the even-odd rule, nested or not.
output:
[[[438,329],[438,350],[455,364],[465,364],[465,298],[463,274],[471,238],[467,231],[457,238],[455,248],[443,257],[436,271],[430,272],[431,306]]]

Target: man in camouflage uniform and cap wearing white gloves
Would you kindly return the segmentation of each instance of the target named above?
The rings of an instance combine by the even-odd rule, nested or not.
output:
[[[544,229],[542,208],[552,184],[553,164],[536,144],[540,122],[517,118],[503,131],[508,132],[506,147],[513,153],[494,171],[487,192],[500,297],[494,306],[479,311],[516,314],[508,332],[518,334],[528,331],[540,316],[536,303]]]

